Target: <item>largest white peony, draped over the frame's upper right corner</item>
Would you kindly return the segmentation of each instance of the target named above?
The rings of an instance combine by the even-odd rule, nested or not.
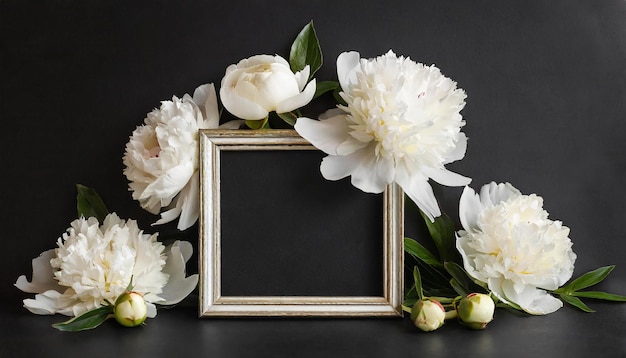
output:
[[[380,193],[398,183],[431,219],[441,215],[428,183],[450,186],[469,178],[444,165],[465,156],[465,124],[459,112],[465,92],[435,66],[425,66],[392,51],[375,59],[357,52],[337,58],[337,74],[347,106],[319,121],[298,118],[295,129],[328,154],[324,178],[352,177],[352,184]]]

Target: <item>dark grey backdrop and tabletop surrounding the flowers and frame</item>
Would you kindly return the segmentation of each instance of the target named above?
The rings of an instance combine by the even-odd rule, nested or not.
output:
[[[61,317],[20,307],[27,295],[12,284],[75,217],[75,183],[149,228],[155,217],[122,175],[132,130],[241,58],[286,55],[311,19],[326,59],[319,79],[334,78],[342,51],[393,49],[457,81],[469,145],[450,167],[475,188],[510,181],[542,195],[572,230],[576,274],[617,264],[601,289],[626,293],[624,0],[0,0],[0,357],[626,356],[626,305],[593,302],[594,314],[498,311],[486,331],[451,323],[433,334],[407,319],[199,320],[192,296],[142,329],[71,335],[50,328]],[[460,189],[439,195],[456,217]]]

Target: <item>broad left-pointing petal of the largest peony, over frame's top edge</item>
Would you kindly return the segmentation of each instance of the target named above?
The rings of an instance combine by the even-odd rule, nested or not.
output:
[[[338,155],[337,148],[342,143],[352,140],[345,115],[338,115],[321,121],[306,117],[298,118],[294,129],[317,149],[330,155]]]

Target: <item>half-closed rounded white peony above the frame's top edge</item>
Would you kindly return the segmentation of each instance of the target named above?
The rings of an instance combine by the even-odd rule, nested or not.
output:
[[[291,72],[282,57],[256,55],[230,65],[222,79],[220,98],[233,115],[264,119],[269,112],[286,113],[304,107],[315,95],[315,79],[310,68]]]

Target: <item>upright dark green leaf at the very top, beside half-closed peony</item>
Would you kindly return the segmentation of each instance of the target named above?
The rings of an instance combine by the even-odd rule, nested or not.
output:
[[[289,52],[289,65],[295,73],[302,71],[307,65],[310,66],[309,79],[320,67],[322,67],[322,49],[313,27],[313,21],[309,22],[298,34]]]

